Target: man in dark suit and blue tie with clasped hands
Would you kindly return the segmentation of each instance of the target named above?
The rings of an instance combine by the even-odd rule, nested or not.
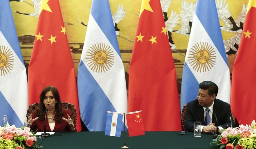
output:
[[[185,116],[185,128],[187,131],[194,131],[194,122],[201,122],[201,132],[216,133],[215,115],[219,130],[231,127],[231,123],[235,126],[230,105],[216,99],[217,93],[218,86],[215,83],[203,81],[199,84],[197,99],[187,104]]]

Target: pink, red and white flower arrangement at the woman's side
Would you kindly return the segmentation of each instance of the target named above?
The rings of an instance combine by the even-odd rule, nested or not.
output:
[[[37,138],[29,127],[0,127],[0,149],[35,149]]]

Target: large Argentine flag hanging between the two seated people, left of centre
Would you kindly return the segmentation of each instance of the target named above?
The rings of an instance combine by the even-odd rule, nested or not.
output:
[[[127,92],[108,0],[93,0],[78,66],[80,117],[89,131],[105,131],[107,113],[127,112]]]

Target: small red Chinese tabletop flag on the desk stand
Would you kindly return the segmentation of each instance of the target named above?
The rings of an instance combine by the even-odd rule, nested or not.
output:
[[[126,113],[126,120],[130,137],[145,134],[141,111]]]

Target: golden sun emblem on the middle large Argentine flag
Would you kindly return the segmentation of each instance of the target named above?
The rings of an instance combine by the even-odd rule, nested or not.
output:
[[[85,59],[86,62],[89,62],[87,65],[93,72],[105,73],[105,71],[108,71],[112,67],[114,54],[109,45],[97,43],[91,45],[88,50]]]

